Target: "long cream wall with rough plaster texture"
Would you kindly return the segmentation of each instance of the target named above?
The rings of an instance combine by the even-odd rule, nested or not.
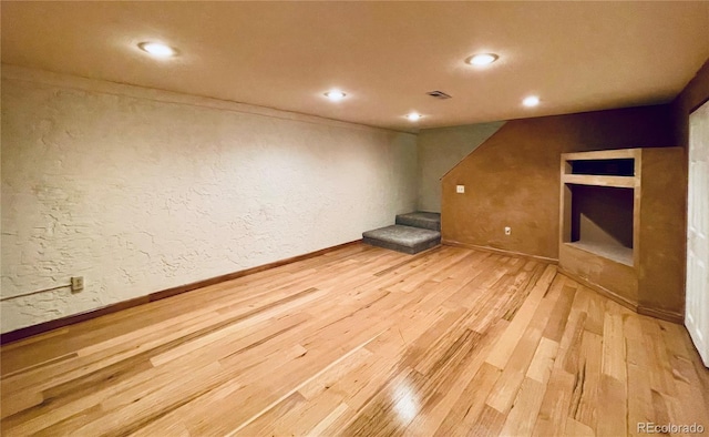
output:
[[[415,206],[412,134],[7,70],[2,296],[74,275],[85,291],[2,302],[2,332],[354,241]]]

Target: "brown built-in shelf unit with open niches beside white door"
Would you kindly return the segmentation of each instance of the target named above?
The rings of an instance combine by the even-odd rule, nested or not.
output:
[[[562,154],[559,270],[636,312],[681,321],[682,278],[667,272],[684,251],[682,156],[681,148]]]

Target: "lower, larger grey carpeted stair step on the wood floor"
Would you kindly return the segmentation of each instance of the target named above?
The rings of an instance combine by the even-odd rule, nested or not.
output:
[[[364,232],[362,234],[362,242],[372,246],[390,248],[413,255],[441,244],[441,233],[421,227],[394,224]]]

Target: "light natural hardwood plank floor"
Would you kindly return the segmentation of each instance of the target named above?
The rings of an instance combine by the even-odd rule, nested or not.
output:
[[[553,265],[361,244],[2,347],[2,434],[623,436],[700,424],[684,327]]]

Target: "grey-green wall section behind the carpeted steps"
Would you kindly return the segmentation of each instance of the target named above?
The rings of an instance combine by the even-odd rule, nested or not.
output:
[[[441,177],[503,124],[500,121],[419,132],[419,211],[441,212]]]

